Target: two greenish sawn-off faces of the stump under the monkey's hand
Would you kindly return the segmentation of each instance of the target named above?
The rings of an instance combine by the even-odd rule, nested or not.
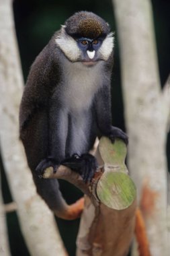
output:
[[[103,162],[103,175],[97,183],[97,197],[114,210],[124,210],[136,198],[136,187],[128,176],[125,165],[126,145],[121,139],[112,143],[102,137],[99,141],[99,154]]]

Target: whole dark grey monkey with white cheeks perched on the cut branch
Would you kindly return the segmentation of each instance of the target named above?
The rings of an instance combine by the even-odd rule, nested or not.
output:
[[[91,181],[97,162],[88,154],[96,136],[128,137],[112,126],[110,80],[114,38],[92,12],[69,18],[32,64],[19,112],[20,138],[38,193],[58,216],[66,203],[58,181],[40,179],[65,164]]]

